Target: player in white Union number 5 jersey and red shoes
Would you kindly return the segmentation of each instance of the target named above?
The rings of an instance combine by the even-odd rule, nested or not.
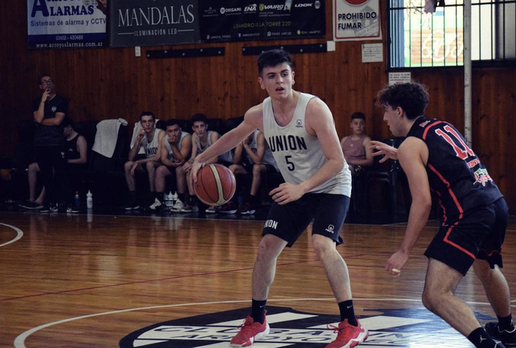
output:
[[[270,194],[268,214],[252,274],[252,309],[232,347],[248,347],[269,331],[265,305],[278,255],[314,219],[312,245],[340,308],[337,338],[327,348],[356,347],[368,335],[354,315],[347,265],[335,246],[349,207],[351,173],[344,161],[333,116],[318,97],[294,89],[291,56],[280,49],[258,58],[259,84],[269,97],[253,106],[241,125],[195,158],[194,180],[206,159],[220,155],[259,129],[271,147],[283,184]]]

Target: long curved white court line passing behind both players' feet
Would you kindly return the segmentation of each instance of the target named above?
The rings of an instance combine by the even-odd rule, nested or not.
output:
[[[358,299],[354,298],[354,301],[395,301],[395,302],[421,302],[421,299]],[[327,299],[268,299],[268,302],[291,302],[291,301],[335,301],[335,298],[327,298]],[[14,347],[15,348],[26,348],[25,346],[25,340],[29,337],[29,335],[35,333],[36,331],[40,331],[42,329],[46,329],[47,327],[54,326],[57,324],[63,324],[66,322],[73,322],[74,320],[79,319],[86,319],[91,317],[100,317],[100,315],[112,315],[112,314],[118,314],[118,313],[126,313],[126,312],[132,312],[136,310],[150,310],[150,309],[156,309],[156,308],[173,308],[173,307],[183,307],[183,306],[205,306],[207,304],[223,304],[223,303],[246,303],[250,302],[250,300],[232,300],[232,301],[211,301],[211,302],[197,302],[197,303],[179,303],[179,304],[173,304],[173,305],[162,305],[162,306],[150,306],[150,307],[139,307],[139,308],[128,308],[123,310],[113,310],[111,312],[104,312],[104,313],[96,313],[96,314],[89,314],[89,315],[81,315],[80,317],[73,317],[68,319],[62,319],[58,320],[56,322],[50,322],[47,324],[43,324],[40,326],[36,326],[33,329],[27,330],[15,338]],[[487,305],[489,306],[490,303],[487,302],[467,302],[471,304],[481,304],[481,305]]]

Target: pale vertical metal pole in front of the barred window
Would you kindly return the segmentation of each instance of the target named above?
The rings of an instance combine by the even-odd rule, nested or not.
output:
[[[471,147],[471,0],[464,0],[464,138]]]

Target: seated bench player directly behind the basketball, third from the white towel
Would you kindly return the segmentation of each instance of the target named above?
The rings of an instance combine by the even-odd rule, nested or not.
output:
[[[200,153],[204,152],[211,144],[218,141],[220,138],[220,134],[215,131],[208,130],[208,123],[206,122],[208,118],[204,113],[196,113],[192,116],[192,129],[194,131],[192,135],[192,157],[188,161],[181,166],[176,172],[177,175],[186,175],[186,183],[188,185],[188,203],[179,210],[179,212],[197,212],[199,211],[199,207],[197,206],[197,196],[195,196],[195,191],[193,188],[193,177],[192,177],[192,163],[195,160],[195,157]],[[220,156],[222,161],[232,161],[232,159],[227,156]],[[218,163],[219,157],[213,157],[205,162],[205,164]],[[178,212],[177,209],[172,209],[173,212]]]

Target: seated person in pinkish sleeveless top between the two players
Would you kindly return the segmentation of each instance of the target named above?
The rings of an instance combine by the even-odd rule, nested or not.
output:
[[[365,115],[361,112],[353,113],[351,115],[353,134],[344,136],[340,141],[351,175],[358,175],[363,167],[373,164],[372,150],[370,149],[371,138],[363,134],[364,127]]]

